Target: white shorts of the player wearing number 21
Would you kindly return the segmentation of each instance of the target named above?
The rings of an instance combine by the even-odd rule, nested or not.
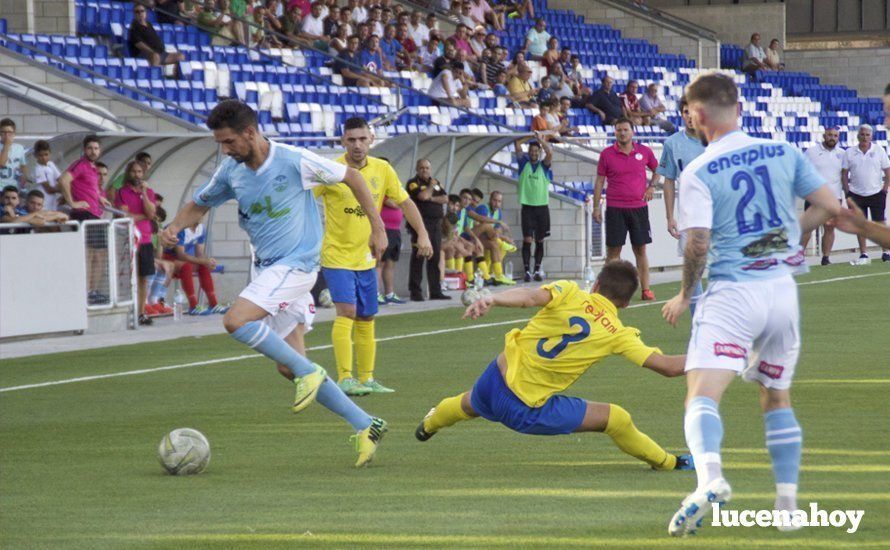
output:
[[[800,355],[797,284],[789,275],[766,281],[715,281],[692,320],[686,371],[727,369],[747,381],[791,387]]]

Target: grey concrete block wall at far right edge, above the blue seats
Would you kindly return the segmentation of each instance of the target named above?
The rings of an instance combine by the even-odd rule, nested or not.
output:
[[[890,48],[787,50],[785,68],[818,76],[823,84],[849,86],[861,96],[880,97],[890,80]]]

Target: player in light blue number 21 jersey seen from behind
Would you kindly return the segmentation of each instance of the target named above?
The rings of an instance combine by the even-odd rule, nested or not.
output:
[[[801,229],[812,231],[840,211],[794,146],[739,131],[738,88],[730,77],[700,76],[686,88],[686,100],[699,136],[710,145],[680,175],[678,229],[687,232],[687,243],[680,294],[662,310],[670,324],[689,307],[706,263],[710,275],[686,359],[684,429],[698,488],[671,519],[674,536],[694,533],[713,504],[732,496],[721,468],[718,407],[739,375],[760,385],[775,509],[786,511],[789,520],[797,509],[802,433],[790,388],[800,352],[800,311],[792,273],[805,268]],[[800,223],[796,197],[813,205]]]

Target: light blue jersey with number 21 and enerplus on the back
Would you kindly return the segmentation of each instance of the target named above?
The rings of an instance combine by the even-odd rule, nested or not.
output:
[[[680,175],[681,231],[711,230],[712,281],[752,281],[805,269],[796,197],[825,182],[792,145],[736,131]]]

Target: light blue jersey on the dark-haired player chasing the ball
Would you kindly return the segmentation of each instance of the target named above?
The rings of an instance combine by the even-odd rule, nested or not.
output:
[[[269,143],[269,157],[256,172],[226,158],[194,201],[211,207],[238,201],[238,223],[256,250],[257,267],[317,271],[323,231],[312,188],[343,181],[347,167],[305,149]]]

